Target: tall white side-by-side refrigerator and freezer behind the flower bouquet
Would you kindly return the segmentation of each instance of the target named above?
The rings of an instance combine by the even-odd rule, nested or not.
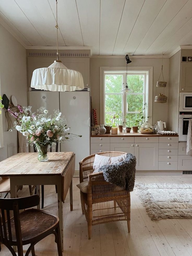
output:
[[[30,88],[31,89],[31,88]],[[90,154],[90,92],[50,92],[32,89],[29,91],[29,105],[32,111],[44,106],[49,114],[54,109],[60,109],[67,119],[69,132],[82,135],[72,140],[62,142],[59,151],[75,153],[75,170],[79,171],[79,162]],[[53,150],[54,151],[54,150]],[[33,148],[31,147],[31,152]]]

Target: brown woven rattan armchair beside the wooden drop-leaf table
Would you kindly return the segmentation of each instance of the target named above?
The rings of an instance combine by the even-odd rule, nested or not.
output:
[[[124,152],[101,152],[103,156],[116,157]],[[91,239],[92,225],[113,221],[127,221],[130,232],[130,192],[104,180],[103,172],[93,172],[95,154],[84,158],[80,164],[80,183],[88,181],[87,193],[80,191],[82,213]]]

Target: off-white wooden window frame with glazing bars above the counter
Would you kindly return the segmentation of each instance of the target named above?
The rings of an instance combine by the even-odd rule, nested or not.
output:
[[[118,73],[119,72],[119,73]],[[126,84],[126,67],[100,67],[100,123],[105,122],[105,75],[107,74],[119,74],[120,72],[124,75],[124,86]],[[144,74],[145,75],[145,86],[144,86],[144,103],[147,103],[146,117],[149,116],[148,122],[152,124],[152,105],[153,105],[153,67],[129,67],[128,74]],[[120,93],[120,92],[119,92]],[[118,93],[114,93],[118,94]],[[126,93],[125,93],[126,94]],[[131,93],[138,94],[138,93]],[[147,97],[146,97],[147,96]],[[124,97],[126,97],[124,95]],[[146,97],[146,98],[145,98]],[[122,106],[122,116],[127,112],[127,99],[124,100],[124,106]],[[135,114],[135,112],[133,113]],[[124,120],[125,121],[125,120]]]

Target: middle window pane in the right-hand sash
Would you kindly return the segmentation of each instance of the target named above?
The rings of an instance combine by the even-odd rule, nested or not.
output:
[[[143,94],[127,94],[127,112],[141,112],[143,109]]]

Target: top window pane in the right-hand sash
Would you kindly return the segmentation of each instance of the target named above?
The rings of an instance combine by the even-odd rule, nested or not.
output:
[[[127,75],[127,85],[134,93],[144,92],[144,75]]]

